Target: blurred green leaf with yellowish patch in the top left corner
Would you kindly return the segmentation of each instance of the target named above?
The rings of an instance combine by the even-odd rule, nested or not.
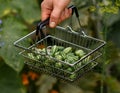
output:
[[[0,17],[16,13],[27,23],[40,20],[40,7],[37,0],[0,0]]]

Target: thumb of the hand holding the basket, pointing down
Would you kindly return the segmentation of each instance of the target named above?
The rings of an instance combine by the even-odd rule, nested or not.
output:
[[[53,9],[50,15],[50,27],[54,28],[58,24],[61,13],[62,13],[62,10],[58,8]]]

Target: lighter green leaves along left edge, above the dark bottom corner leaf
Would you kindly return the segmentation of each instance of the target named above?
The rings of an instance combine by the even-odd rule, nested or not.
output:
[[[29,25],[39,20],[39,13],[40,10],[35,1],[1,0],[0,18],[2,18],[3,21],[1,34],[3,35],[2,39],[5,45],[1,48],[0,55],[8,65],[18,72],[22,69],[23,62],[21,62],[20,60],[22,59],[16,55],[18,52],[13,42],[28,33]]]

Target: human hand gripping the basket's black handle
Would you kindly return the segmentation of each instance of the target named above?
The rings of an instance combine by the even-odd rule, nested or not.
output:
[[[57,24],[71,16],[72,10],[68,9],[71,0],[43,0],[41,3],[42,21],[50,17],[49,26],[54,28]]]

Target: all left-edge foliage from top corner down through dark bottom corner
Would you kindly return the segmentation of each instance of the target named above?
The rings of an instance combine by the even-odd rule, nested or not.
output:
[[[19,75],[24,60],[18,55],[13,42],[32,31],[31,25],[40,19],[37,1],[0,0],[0,19],[0,41],[4,43],[0,47],[1,93],[26,93]]]

